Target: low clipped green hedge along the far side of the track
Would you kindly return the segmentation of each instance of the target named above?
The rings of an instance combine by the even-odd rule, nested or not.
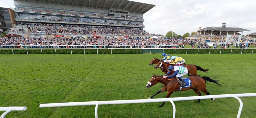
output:
[[[111,49],[72,49],[72,54],[111,54]],[[144,49],[112,49],[112,54],[141,54],[142,50]],[[150,50],[150,49],[148,49]],[[243,50],[243,51],[242,51]],[[1,50],[0,49],[0,54],[71,54],[71,49],[57,49],[55,52],[55,49],[42,49],[42,50],[26,50],[26,49],[21,49],[21,50],[15,50],[15,49],[10,49],[10,50]],[[28,51],[28,52],[27,52]],[[165,53],[170,53],[170,54],[241,54],[242,53],[256,53],[256,49],[164,49]]]

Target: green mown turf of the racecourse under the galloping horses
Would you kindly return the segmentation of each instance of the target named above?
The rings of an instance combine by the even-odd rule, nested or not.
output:
[[[145,85],[160,69],[148,66],[161,54],[0,55],[0,106],[27,106],[5,118],[93,118],[95,106],[39,108],[42,103],[146,99],[161,84]],[[171,54],[172,55],[172,54]],[[207,84],[211,95],[255,93],[255,54],[175,54],[209,72],[198,75],[220,80]],[[202,92],[201,92],[202,93]],[[166,92],[155,98],[165,98]],[[202,95],[205,95],[202,93]],[[196,96],[193,90],[174,92],[171,97]],[[255,118],[256,97],[240,97],[241,118]],[[239,102],[235,98],[175,101],[176,118],[234,118]],[[100,118],[170,118],[172,105],[157,103],[100,105]],[[2,114],[3,112],[0,112]]]

